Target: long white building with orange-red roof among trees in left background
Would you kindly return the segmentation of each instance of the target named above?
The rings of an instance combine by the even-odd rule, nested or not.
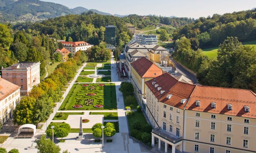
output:
[[[78,50],[87,50],[91,48],[91,44],[87,42],[60,42],[64,48],[69,50],[72,53],[72,56],[75,56]]]

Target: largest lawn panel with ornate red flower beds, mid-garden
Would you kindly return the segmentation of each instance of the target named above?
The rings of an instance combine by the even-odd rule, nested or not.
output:
[[[100,87],[99,84],[89,84],[83,87],[83,84],[74,84],[69,94],[66,96],[61,110],[88,110],[88,109],[116,109],[116,86],[114,83],[105,83],[105,86]],[[95,88],[94,88],[95,87]],[[93,89],[94,88],[94,89]],[[96,93],[95,96],[87,96],[85,94]],[[89,99],[92,104],[88,103]],[[87,105],[86,105],[87,104]],[[81,108],[73,108],[73,105],[82,105]],[[103,105],[102,108],[95,108],[95,105]]]

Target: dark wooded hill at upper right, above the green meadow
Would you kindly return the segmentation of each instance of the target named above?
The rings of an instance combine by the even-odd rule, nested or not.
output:
[[[218,46],[228,36],[238,37],[241,42],[256,39],[256,9],[214,14],[200,17],[190,24],[181,26],[173,34],[174,39],[189,38],[192,48]]]

